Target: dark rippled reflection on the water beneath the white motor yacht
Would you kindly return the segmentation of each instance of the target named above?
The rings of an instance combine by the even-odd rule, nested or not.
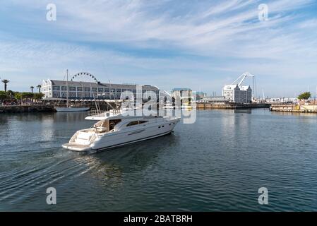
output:
[[[95,154],[78,154],[74,161],[85,165],[85,170],[80,174],[90,174],[96,183],[108,184],[111,181],[111,186],[121,186],[124,174],[136,173],[149,167],[153,170],[157,158],[179,142],[179,137],[171,133]]]

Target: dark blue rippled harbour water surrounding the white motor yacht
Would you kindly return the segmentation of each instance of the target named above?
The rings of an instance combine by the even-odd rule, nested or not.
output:
[[[92,155],[61,148],[92,125],[84,118],[1,114],[0,210],[317,210],[316,114],[198,111],[195,124],[150,141]]]

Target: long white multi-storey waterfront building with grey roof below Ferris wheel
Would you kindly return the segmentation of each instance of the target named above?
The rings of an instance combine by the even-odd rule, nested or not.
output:
[[[137,93],[137,85],[131,84],[110,84],[110,83],[88,83],[80,81],[68,81],[68,98],[73,100],[119,100],[121,93],[129,91],[133,93],[134,98],[143,96],[147,91],[155,92],[159,95],[159,88],[152,85],[142,85],[142,94]],[[66,99],[67,97],[67,82],[59,80],[42,81],[41,92],[44,94],[44,99]],[[127,97],[127,96],[126,96]],[[126,99],[126,98],[124,98]]]

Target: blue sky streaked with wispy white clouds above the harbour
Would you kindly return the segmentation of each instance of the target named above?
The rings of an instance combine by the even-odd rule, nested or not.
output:
[[[56,21],[46,19],[50,3],[56,4]],[[63,79],[68,69],[88,71],[102,82],[208,94],[220,94],[223,85],[249,71],[258,95],[316,93],[315,0],[0,4],[0,77],[11,81],[11,90]],[[267,21],[258,20],[260,4],[268,6]]]

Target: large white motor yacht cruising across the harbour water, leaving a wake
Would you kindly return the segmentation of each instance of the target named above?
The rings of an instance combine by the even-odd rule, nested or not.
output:
[[[104,150],[145,141],[171,133],[180,117],[138,117],[121,114],[98,121],[90,129],[77,131],[63,148],[76,151]]]

